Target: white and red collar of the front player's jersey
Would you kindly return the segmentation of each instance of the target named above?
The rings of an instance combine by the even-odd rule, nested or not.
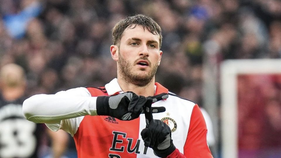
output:
[[[124,93],[117,82],[117,78],[114,78],[112,81],[107,83],[105,86],[108,95],[114,95],[117,93]],[[161,93],[168,93],[168,89],[162,86],[160,83],[155,82],[155,94],[158,95]]]

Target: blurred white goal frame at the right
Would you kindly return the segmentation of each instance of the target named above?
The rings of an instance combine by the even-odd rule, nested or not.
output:
[[[220,66],[222,158],[239,158],[239,75],[281,75],[281,59],[235,59],[222,62]]]

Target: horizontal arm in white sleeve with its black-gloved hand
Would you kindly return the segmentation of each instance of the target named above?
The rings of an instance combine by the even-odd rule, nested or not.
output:
[[[29,121],[50,124],[59,124],[61,120],[85,115],[105,115],[120,120],[132,120],[143,112],[147,99],[157,102],[167,97],[166,93],[143,97],[133,92],[91,97],[86,88],[80,87],[55,95],[34,95],[23,102],[23,114]],[[153,108],[155,113],[165,111],[164,107]]]

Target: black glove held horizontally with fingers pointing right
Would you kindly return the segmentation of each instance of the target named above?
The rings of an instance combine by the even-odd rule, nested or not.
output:
[[[168,98],[167,93],[155,96],[138,96],[133,92],[125,92],[112,96],[97,97],[97,115],[112,116],[119,120],[133,120],[144,113],[143,107],[148,99],[153,100],[151,104]],[[165,107],[153,107],[153,113],[164,112]]]

